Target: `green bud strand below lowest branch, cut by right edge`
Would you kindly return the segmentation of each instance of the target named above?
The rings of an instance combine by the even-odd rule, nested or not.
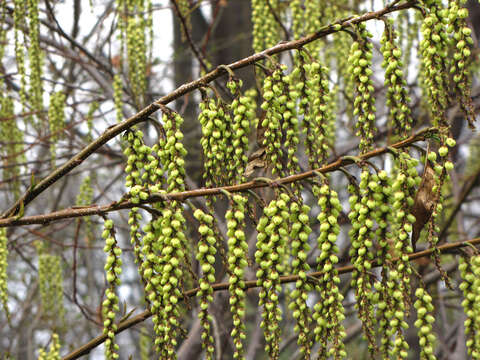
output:
[[[459,260],[459,270],[462,277],[460,290],[464,299],[462,306],[467,316],[465,320],[465,335],[467,336],[467,349],[472,359],[480,359],[480,255],[475,254],[466,259]]]

